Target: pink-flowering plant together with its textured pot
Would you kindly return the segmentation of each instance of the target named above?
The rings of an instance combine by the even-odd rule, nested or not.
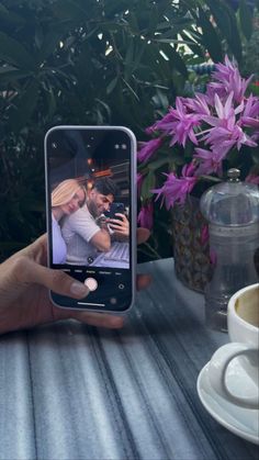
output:
[[[146,128],[151,138],[139,143],[138,222],[151,228],[154,201],[171,211],[177,274],[201,291],[212,260],[199,198],[232,167],[259,184],[259,98],[249,93],[251,80],[226,56],[205,92],[177,97],[176,106]]]

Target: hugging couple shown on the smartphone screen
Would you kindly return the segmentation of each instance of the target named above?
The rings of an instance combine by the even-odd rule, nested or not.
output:
[[[119,194],[111,178],[95,180],[90,190],[80,180],[67,179],[53,190],[53,263],[88,266],[111,249],[113,239],[128,240],[126,215],[104,215]]]

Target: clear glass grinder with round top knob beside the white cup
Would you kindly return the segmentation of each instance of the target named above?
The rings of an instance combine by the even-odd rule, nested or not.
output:
[[[240,182],[238,169],[201,198],[209,221],[212,279],[205,288],[206,325],[227,330],[227,304],[239,289],[258,281],[255,254],[259,248],[259,190]]]

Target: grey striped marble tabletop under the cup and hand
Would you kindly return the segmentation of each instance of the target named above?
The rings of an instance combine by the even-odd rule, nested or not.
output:
[[[204,326],[203,296],[154,277],[125,327],[60,322],[0,337],[0,459],[257,459],[217,424],[196,378],[227,335]]]

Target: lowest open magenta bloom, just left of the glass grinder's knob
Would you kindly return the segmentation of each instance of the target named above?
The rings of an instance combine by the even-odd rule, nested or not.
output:
[[[157,193],[156,201],[162,195],[161,205],[166,204],[167,210],[169,210],[176,202],[183,204],[187,198],[187,194],[190,193],[195,186],[198,178],[187,176],[190,172],[193,172],[190,165],[185,165],[182,168],[182,177],[178,178],[174,172],[165,175],[167,177],[166,182],[160,189],[151,190],[153,193]]]

